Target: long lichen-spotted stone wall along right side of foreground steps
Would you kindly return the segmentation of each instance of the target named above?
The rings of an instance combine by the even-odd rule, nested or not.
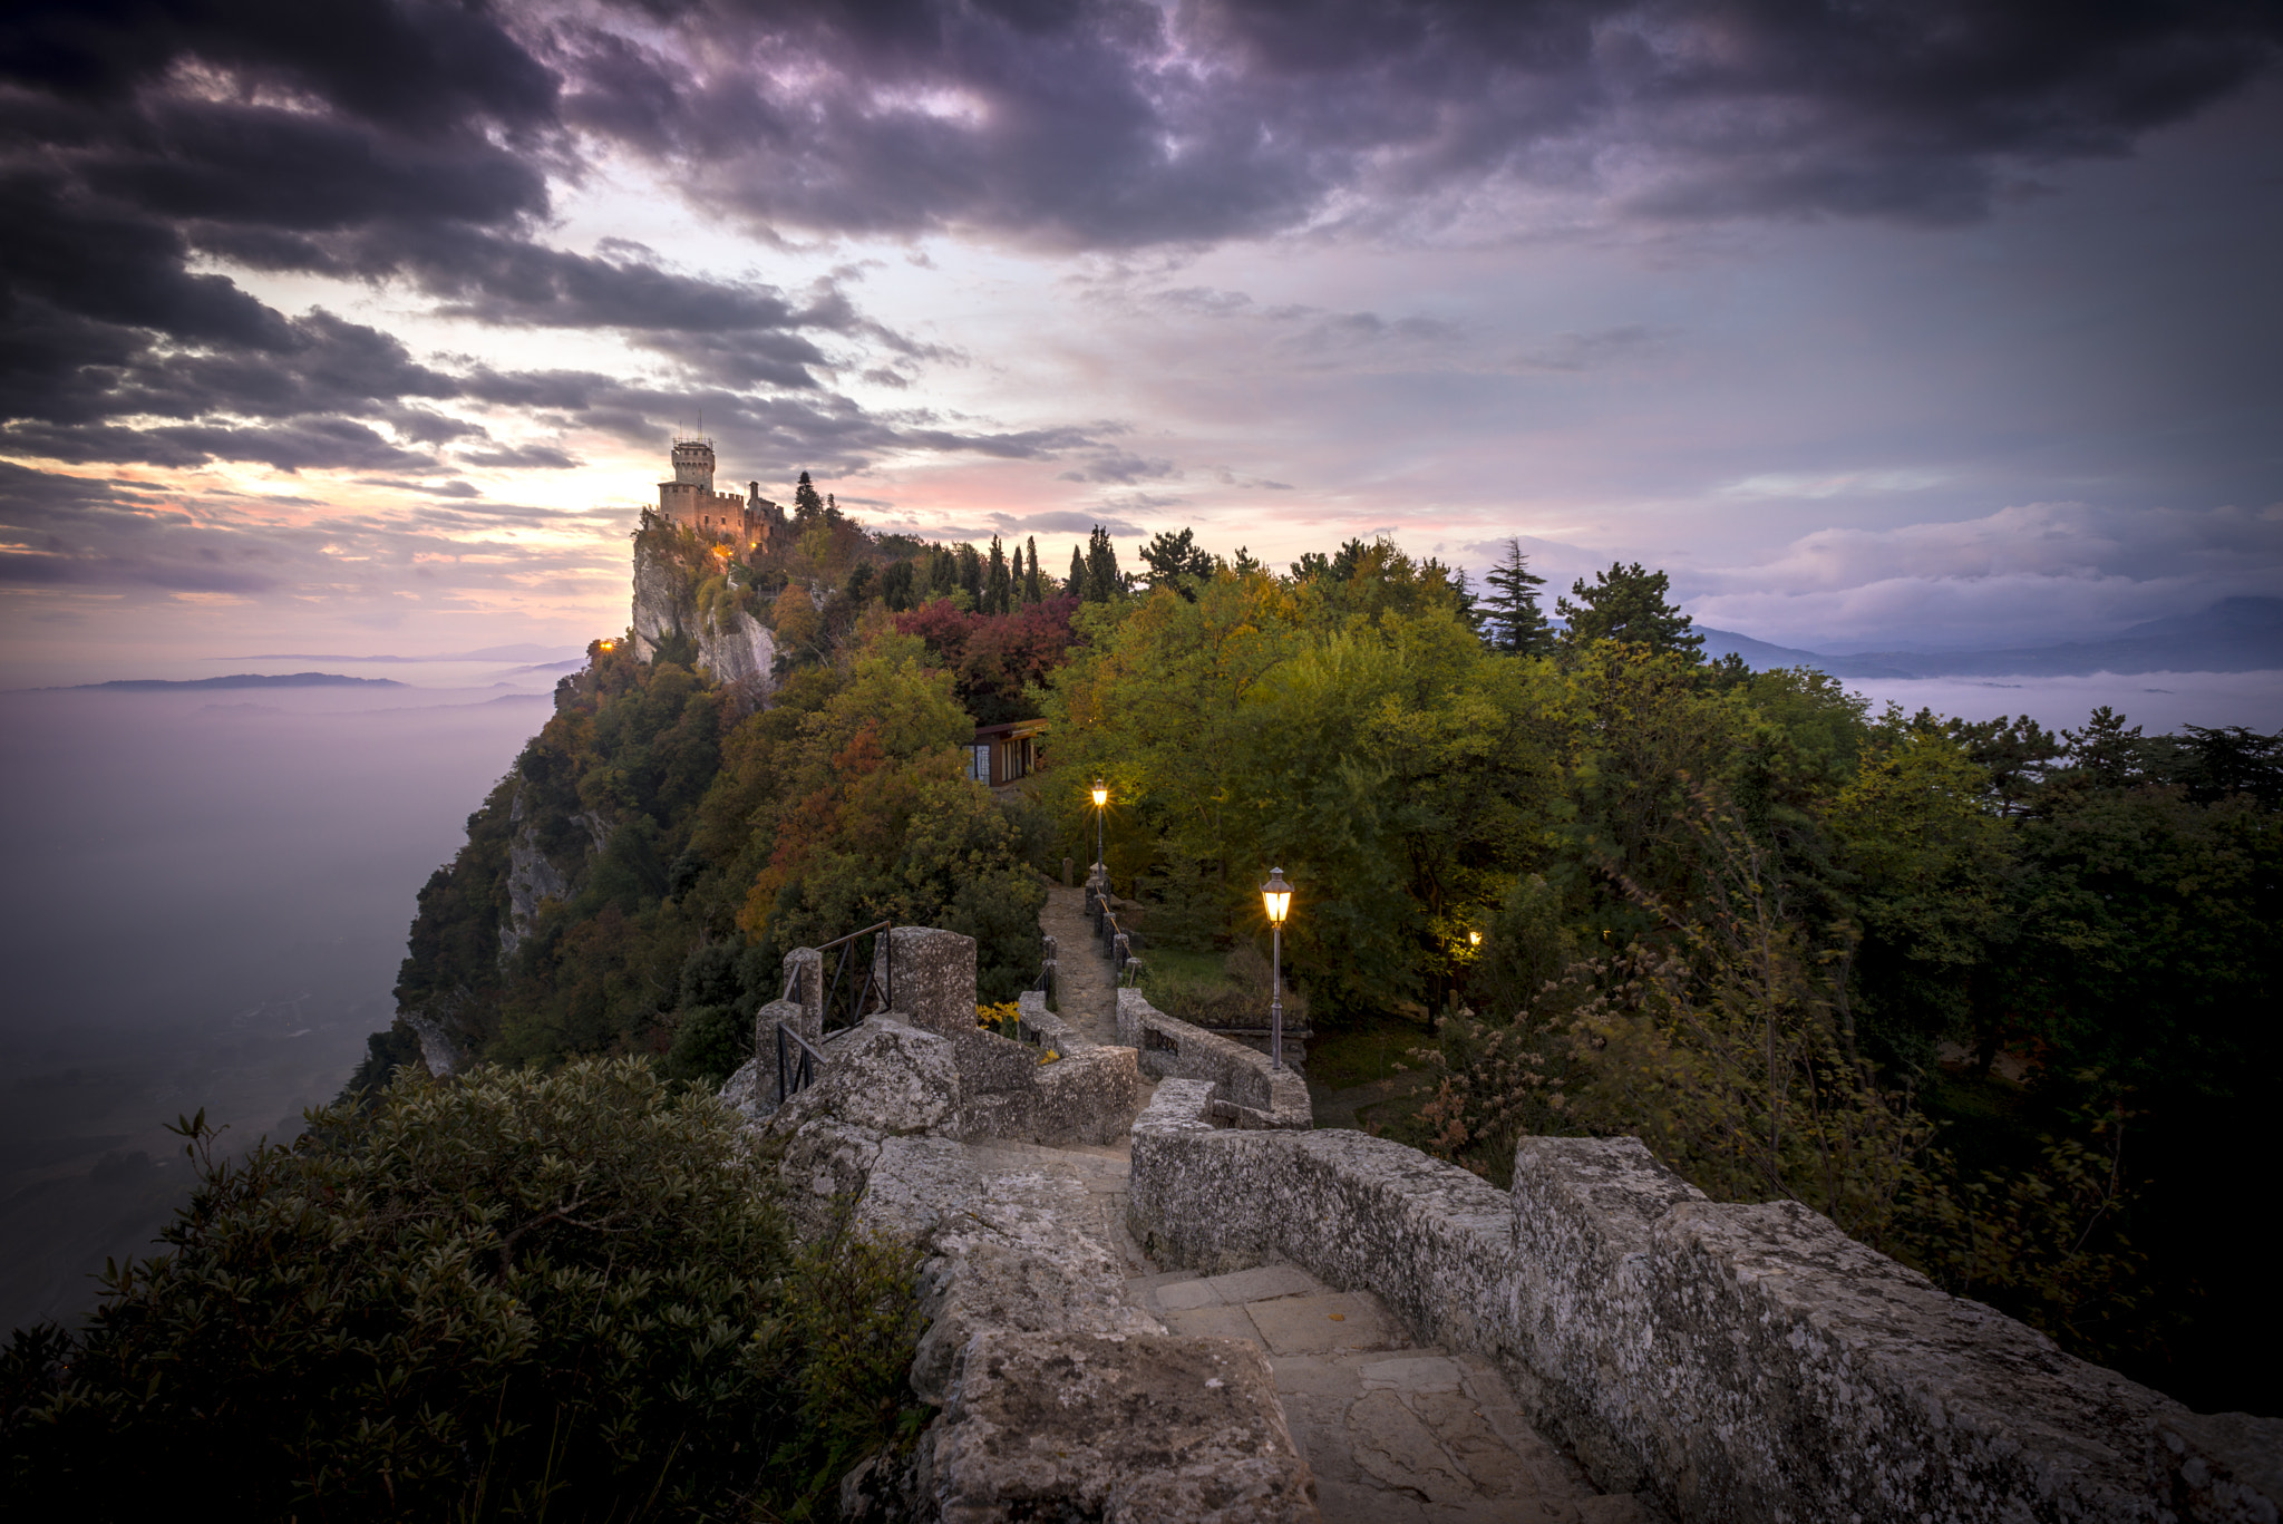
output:
[[[1208,1097],[1167,1081],[1135,1122],[1160,1259],[1370,1289],[1680,1519],[2276,1517],[2283,1421],[2192,1414],[1797,1204],[1708,1202],[1637,1140],[1525,1140],[1502,1193],[1363,1133],[1215,1129]]]

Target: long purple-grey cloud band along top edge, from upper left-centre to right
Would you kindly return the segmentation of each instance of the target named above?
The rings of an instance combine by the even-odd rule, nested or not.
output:
[[[1137,247],[1486,181],[1637,212],[1982,215],[2274,62],[2242,0],[909,0],[566,25],[564,119],[769,224]]]

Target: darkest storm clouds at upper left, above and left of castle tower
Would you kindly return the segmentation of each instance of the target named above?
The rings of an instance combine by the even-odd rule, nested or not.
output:
[[[578,171],[541,53],[500,14],[457,5],[11,7],[0,448],[450,473],[434,446],[489,439],[436,404],[511,391],[500,377],[416,361],[324,311],[274,311],[201,258],[393,279],[438,315],[495,327],[614,331],[740,395],[820,391],[833,359],[817,336],[895,338],[831,283],[785,295],[673,272],[632,242],[591,256],[541,242],[548,176]],[[527,377],[521,391],[546,407],[594,388]],[[605,427],[630,436],[689,411],[671,391],[637,409],[632,388],[603,391]],[[815,418],[836,446],[895,434],[831,409]],[[537,455],[466,459],[568,464],[543,443],[525,450]]]

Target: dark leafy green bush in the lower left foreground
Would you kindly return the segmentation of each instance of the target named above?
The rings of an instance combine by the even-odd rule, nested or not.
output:
[[[900,1417],[909,1257],[794,1257],[733,1117],[644,1062],[400,1076],[215,1154],[169,1252],[0,1359],[27,1515],[806,1513]]]

